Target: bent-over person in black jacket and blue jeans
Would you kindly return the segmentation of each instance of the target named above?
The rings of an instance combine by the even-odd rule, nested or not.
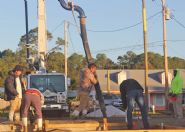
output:
[[[123,103],[123,109],[127,109],[128,129],[133,129],[132,112],[134,109],[135,102],[138,104],[141,110],[144,128],[148,129],[148,114],[144,103],[142,86],[134,79],[127,79],[120,84],[120,92]]]

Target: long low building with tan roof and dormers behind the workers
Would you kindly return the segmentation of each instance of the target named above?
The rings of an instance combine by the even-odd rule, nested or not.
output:
[[[98,79],[103,92],[112,92],[119,94],[119,84],[127,79],[133,78],[137,80],[143,88],[145,88],[144,70],[97,70]],[[185,80],[185,70],[180,70],[181,76]],[[173,70],[169,70],[169,87],[173,78]],[[185,88],[185,81],[184,81]],[[154,105],[158,110],[164,110],[165,91],[169,88],[165,88],[165,74],[164,70],[149,70],[148,72],[148,91],[149,91],[149,106]],[[185,106],[185,89],[183,95],[183,104]]]

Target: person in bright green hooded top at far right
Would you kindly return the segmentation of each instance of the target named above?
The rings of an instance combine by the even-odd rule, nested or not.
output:
[[[182,119],[183,118],[183,107],[182,107],[182,89],[183,89],[183,79],[180,76],[179,70],[173,71],[174,78],[171,82],[171,88],[169,91],[169,95],[175,97],[175,100],[172,101],[174,116],[175,118]]]

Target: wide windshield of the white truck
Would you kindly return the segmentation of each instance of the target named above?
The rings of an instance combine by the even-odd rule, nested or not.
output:
[[[65,77],[63,75],[32,75],[30,76],[30,88],[36,88],[41,92],[65,91]]]

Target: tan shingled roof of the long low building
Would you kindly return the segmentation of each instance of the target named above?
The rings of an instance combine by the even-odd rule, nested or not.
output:
[[[119,91],[118,74],[120,72],[126,74],[126,78],[133,78],[137,80],[143,88],[145,87],[144,70],[109,70],[110,72],[110,90]],[[169,70],[169,73],[173,75],[173,70]],[[185,79],[185,70],[180,70],[181,76]],[[107,91],[107,70],[97,70],[98,80],[100,82],[101,89]],[[165,85],[162,84],[160,76],[164,74],[164,70],[149,70],[148,71],[148,88],[150,93],[164,93]],[[125,78],[125,79],[126,79]],[[184,82],[185,88],[185,82]]]

